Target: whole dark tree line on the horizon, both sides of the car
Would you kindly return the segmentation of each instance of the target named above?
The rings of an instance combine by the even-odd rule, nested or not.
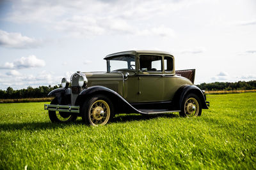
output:
[[[253,81],[238,81],[235,83],[230,82],[214,82],[214,83],[201,83],[196,85],[202,90],[216,91],[216,90],[255,90],[256,80]],[[43,98],[47,97],[47,94],[51,90],[57,89],[61,86],[51,85],[40,86],[37,88],[28,87],[27,89],[13,90],[12,87],[8,87],[6,90],[0,90],[0,99],[24,99],[24,98]]]

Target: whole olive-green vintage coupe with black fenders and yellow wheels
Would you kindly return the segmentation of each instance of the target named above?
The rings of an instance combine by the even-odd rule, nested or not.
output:
[[[118,113],[157,114],[179,112],[197,117],[208,109],[204,91],[193,85],[195,69],[175,71],[167,52],[127,51],[107,55],[106,72],[72,74],[52,90],[45,104],[52,122],[72,122],[82,117],[90,125],[104,125]]]

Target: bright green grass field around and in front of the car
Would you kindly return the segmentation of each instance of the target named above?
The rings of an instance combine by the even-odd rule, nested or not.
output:
[[[44,103],[0,104],[0,169],[255,169],[256,93],[210,95],[198,118],[51,124]]]

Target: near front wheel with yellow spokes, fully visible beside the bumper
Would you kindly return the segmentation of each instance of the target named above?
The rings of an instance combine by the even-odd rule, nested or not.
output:
[[[88,125],[105,125],[114,116],[114,107],[110,99],[103,95],[95,95],[83,104],[82,120]]]

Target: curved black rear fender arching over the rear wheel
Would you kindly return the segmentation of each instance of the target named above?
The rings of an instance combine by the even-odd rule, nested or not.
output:
[[[175,96],[173,97],[173,104],[175,105],[175,108],[179,110],[182,108],[182,101],[189,93],[196,94],[196,96],[198,96],[198,98],[200,99],[202,108],[208,109],[202,90],[195,85],[183,85],[182,87],[180,87],[179,90],[177,90]]]

